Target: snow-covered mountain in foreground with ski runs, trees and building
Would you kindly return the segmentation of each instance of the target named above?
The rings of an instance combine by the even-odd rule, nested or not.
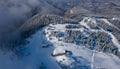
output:
[[[26,43],[1,52],[0,69],[120,68],[119,18],[38,14],[19,31]]]

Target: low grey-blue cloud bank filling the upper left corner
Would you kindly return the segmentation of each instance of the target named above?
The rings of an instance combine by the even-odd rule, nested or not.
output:
[[[39,0],[0,0],[0,46],[12,39],[12,34],[33,15]]]

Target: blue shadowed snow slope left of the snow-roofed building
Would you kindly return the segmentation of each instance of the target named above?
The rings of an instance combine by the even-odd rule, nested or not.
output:
[[[42,30],[27,40],[30,41],[30,43],[25,45],[25,47],[28,49],[27,52],[29,52],[30,55],[23,56],[19,59],[14,56],[11,60],[11,54],[0,54],[0,69],[39,69],[41,64],[43,64],[46,69],[60,69],[60,66],[51,57],[54,48],[42,48],[41,46],[42,42],[46,41]],[[46,43],[48,42],[46,41]]]

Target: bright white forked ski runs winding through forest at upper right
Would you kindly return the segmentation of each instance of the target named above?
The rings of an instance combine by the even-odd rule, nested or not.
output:
[[[85,20],[87,20],[87,22],[85,22]],[[112,23],[110,23],[107,19],[101,18],[101,19],[99,19],[99,20],[102,20],[102,21],[104,21],[105,23],[107,23],[108,25],[114,26],[115,28],[117,28],[115,25],[113,25]],[[105,30],[102,29],[102,28],[101,28],[100,30],[91,29],[91,28],[87,25],[88,22],[93,23],[93,24],[96,24],[96,20],[95,20],[94,18],[89,18],[89,17],[85,17],[85,18],[80,22],[80,24],[83,25],[83,26],[85,26],[86,28],[88,28],[88,29],[89,29],[90,31],[92,31],[92,32],[101,31],[101,32],[105,32],[105,33],[107,33],[108,35],[110,35],[111,38],[112,38],[112,42],[114,43],[115,46],[118,47],[118,49],[119,49],[119,51],[120,51],[120,44],[119,44],[117,38],[116,38],[111,32],[105,31]],[[118,28],[117,28],[117,29],[118,29]],[[79,30],[79,29],[78,29],[78,30]]]

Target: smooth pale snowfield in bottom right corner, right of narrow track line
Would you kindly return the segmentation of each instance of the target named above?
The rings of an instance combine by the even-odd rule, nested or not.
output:
[[[109,56],[104,53],[96,53],[94,59],[94,66],[107,68],[107,69],[119,69],[120,60],[118,57],[114,55]]]

